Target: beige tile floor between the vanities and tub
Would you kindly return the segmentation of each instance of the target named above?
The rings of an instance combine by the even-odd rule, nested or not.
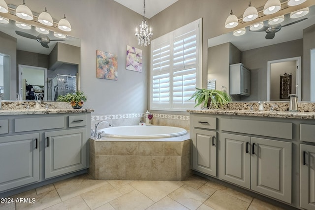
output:
[[[193,175],[186,181],[93,180],[84,174],[18,195],[0,210],[283,210]]]

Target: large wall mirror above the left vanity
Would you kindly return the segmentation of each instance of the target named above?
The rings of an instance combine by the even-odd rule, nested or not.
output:
[[[0,97],[56,100],[78,90],[81,40],[0,23]]]

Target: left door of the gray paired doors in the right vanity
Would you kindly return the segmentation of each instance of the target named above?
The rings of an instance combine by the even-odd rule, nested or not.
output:
[[[221,179],[251,188],[251,137],[221,133]]]

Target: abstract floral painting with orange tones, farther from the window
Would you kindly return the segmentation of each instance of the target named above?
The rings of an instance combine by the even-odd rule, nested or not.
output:
[[[117,80],[117,55],[96,50],[96,78]]]

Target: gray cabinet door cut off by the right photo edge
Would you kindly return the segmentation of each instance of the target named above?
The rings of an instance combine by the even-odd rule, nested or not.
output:
[[[300,144],[301,207],[315,210],[315,146]]]

